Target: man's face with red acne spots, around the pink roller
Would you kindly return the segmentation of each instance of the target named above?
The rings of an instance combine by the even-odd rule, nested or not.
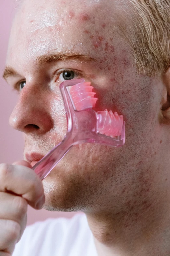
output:
[[[91,82],[97,111],[117,111],[126,121],[123,147],[74,146],[50,172],[43,181],[49,210],[96,211],[110,206],[118,212],[122,204],[129,207],[127,200],[133,205],[142,188],[138,197],[146,198],[156,179],[150,166],[156,168],[161,157],[156,153],[162,139],[161,80],[136,73],[130,47],[117,26],[126,1],[113,2],[25,0],[14,20],[7,66],[17,75],[8,82],[24,87],[10,123],[25,133],[24,155],[45,155],[66,134],[59,91],[65,69],[71,70],[70,79]],[[130,21],[124,17],[124,23],[128,26]],[[96,61],[73,58],[37,64],[40,56],[55,53],[87,55]]]

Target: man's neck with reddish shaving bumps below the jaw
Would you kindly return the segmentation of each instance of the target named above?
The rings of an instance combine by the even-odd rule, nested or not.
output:
[[[98,256],[170,255],[169,193],[155,194],[129,211],[86,213]]]

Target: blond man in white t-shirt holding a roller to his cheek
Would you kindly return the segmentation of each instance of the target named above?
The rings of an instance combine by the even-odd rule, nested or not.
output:
[[[35,224],[14,255],[170,255],[169,40],[169,0],[22,1],[4,78],[19,91],[10,124],[25,133],[27,162],[0,167],[0,255],[20,240],[27,204],[44,202],[83,211],[91,231],[81,217],[55,232]],[[126,143],[74,146],[41,182],[30,168],[64,138],[59,84],[75,78],[94,86],[96,110],[124,116]]]

